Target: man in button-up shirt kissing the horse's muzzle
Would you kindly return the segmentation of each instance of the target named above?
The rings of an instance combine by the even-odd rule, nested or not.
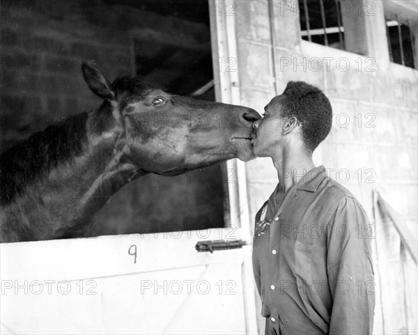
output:
[[[258,157],[279,185],[256,215],[253,263],[265,334],[371,334],[374,281],[368,219],[312,153],[332,125],[318,88],[291,81],[254,123]]]

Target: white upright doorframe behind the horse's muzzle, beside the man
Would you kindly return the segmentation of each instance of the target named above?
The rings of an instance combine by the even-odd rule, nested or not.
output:
[[[237,61],[235,13],[227,13],[226,6],[232,1],[208,0],[210,15],[210,36],[212,43],[212,63],[217,102],[241,104],[239,67],[226,71],[219,68],[220,63],[229,58]],[[221,13],[217,6],[222,6]],[[229,11],[230,12],[230,11]],[[226,64],[226,63],[224,63]],[[236,63],[238,64],[238,63]],[[226,162],[228,171],[235,171],[235,182],[228,183],[231,225],[240,227],[241,237],[252,244],[251,219],[249,216],[247,168],[245,162],[230,159]],[[242,285],[244,288],[245,320],[247,334],[257,334],[256,295],[252,267],[252,247],[242,248]]]

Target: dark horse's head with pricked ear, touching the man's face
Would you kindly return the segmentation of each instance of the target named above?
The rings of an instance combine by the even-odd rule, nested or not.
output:
[[[104,98],[98,113],[113,118],[116,149],[143,171],[174,175],[238,157],[254,158],[253,109],[173,95],[119,77],[110,83],[99,70],[83,63],[88,87]]]

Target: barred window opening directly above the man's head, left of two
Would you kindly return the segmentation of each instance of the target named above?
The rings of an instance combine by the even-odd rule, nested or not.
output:
[[[338,0],[299,0],[303,40],[345,49],[341,4]]]

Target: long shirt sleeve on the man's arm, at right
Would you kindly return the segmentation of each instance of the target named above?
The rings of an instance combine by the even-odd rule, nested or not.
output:
[[[330,334],[372,334],[373,226],[355,198],[343,198],[333,213],[327,226],[327,275],[333,301]]]

